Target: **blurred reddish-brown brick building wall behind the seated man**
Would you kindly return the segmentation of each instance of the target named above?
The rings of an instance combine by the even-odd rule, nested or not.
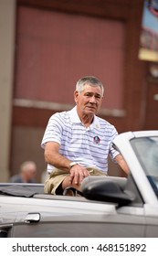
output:
[[[74,105],[84,75],[105,86],[100,116],[118,132],[157,129],[158,81],[138,59],[143,0],[17,0],[10,174],[40,149],[48,118]]]

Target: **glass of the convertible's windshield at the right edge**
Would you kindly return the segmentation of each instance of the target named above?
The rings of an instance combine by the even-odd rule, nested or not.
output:
[[[134,138],[132,148],[158,196],[158,137]]]

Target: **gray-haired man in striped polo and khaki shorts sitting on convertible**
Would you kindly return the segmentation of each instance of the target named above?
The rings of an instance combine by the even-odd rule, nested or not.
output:
[[[76,106],[50,117],[41,144],[49,174],[46,193],[62,194],[69,186],[79,189],[86,176],[106,176],[108,155],[128,173],[122,156],[112,147],[118,134],[115,127],[96,115],[103,94],[100,80],[84,77],[74,91]]]

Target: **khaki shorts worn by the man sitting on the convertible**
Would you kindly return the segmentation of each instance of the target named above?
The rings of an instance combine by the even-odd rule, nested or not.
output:
[[[87,168],[90,172],[90,176],[107,176],[104,172],[94,169]],[[56,195],[56,189],[63,182],[64,178],[68,176],[68,172],[59,169],[54,169],[44,184],[44,192],[47,194]]]

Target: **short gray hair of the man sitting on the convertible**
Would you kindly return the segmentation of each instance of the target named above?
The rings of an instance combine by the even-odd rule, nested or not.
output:
[[[99,79],[92,77],[92,76],[83,77],[80,80],[78,80],[78,82],[76,84],[76,91],[79,91],[79,92],[83,91],[86,84],[89,84],[90,86],[93,86],[93,87],[99,86],[102,91],[102,96],[103,96],[104,87],[103,87],[102,83],[100,82]]]

